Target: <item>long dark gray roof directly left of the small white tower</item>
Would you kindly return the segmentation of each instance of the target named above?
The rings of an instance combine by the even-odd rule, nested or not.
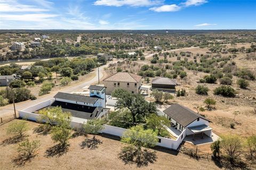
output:
[[[54,98],[71,100],[71,101],[79,101],[79,102],[90,103],[90,104],[95,104],[96,101],[98,100],[98,98],[96,98],[96,97],[67,94],[65,92],[58,92],[54,96]]]

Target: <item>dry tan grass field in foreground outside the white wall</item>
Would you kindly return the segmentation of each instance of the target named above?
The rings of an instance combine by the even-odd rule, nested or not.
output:
[[[160,147],[154,148],[156,151],[156,162],[149,163],[148,166],[138,167],[135,164],[126,164],[119,159],[119,152],[125,146],[125,143],[119,141],[119,138],[109,135],[97,135],[99,144],[97,148],[82,148],[81,143],[91,135],[78,135],[69,139],[69,148],[66,152],[59,154],[55,150],[55,143],[51,140],[50,134],[35,133],[35,129],[41,124],[27,122],[29,130],[26,132],[28,139],[39,140],[41,147],[37,155],[29,161],[19,162],[17,160],[18,143],[10,141],[11,135],[6,134],[6,128],[9,124],[20,120],[13,120],[0,126],[0,169],[218,169],[211,160],[190,158],[181,152],[171,151]],[[47,150],[47,151],[46,151]],[[151,149],[150,149],[151,150]],[[152,150],[151,150],[152,151]]]

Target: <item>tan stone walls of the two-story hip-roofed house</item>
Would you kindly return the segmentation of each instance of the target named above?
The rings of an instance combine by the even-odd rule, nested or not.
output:
[[[135,83],[131,83],[129,82],[129,87],[127,87],[127,83],[128,82],[119,82],[119,87],[118,87],[118,81],[116,81],[116,87],[114,86],[114,81],[103,81],[104,82],[104,86],[107,87],[106,89],[106,94],[107,95],[111,95],[111,93],[115,90],[115,89],[125,89],[127,91],[130,92],[134,92],[134,94],[138,94],[139,93],[139,87],[141,86],[141,81],[137,83],[137,87],[134,86]]]

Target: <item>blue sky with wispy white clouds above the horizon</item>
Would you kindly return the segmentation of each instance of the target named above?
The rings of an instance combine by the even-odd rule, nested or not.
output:
[[[256,0],[0,0],[0,29],[256,29]]]

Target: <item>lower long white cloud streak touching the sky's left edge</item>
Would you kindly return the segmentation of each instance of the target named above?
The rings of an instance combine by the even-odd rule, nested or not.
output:
[[[28,21],[28,22],[42,22],[50,18],[54,18],[58,15],[55,14],[1,14],[0,20],[9,20],[9,21]]]

